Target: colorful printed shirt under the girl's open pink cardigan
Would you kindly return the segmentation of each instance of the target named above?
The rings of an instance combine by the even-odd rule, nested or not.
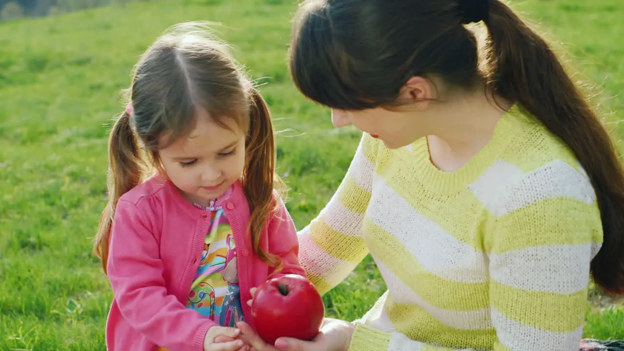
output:
[[[208,207],[196,206],[212,213],[204,240],[202,258],[188,293],[186,307],[226,327],[235,327],[243,320],[236,273],[236,247],[232,229],[219,205],[231,190]]]

